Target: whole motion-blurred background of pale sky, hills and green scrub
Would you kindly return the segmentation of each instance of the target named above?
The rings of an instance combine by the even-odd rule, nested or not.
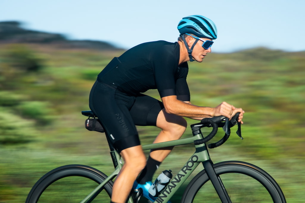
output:
[[[246,111],[244,140],[232,134],[210,150],[214,163],[253,163],[274,177],[287,202],[303,202],[304,1],[184,4],[0,2],[0,202],[25,201],[34,183],[61,165],[90,165],[109,174],[104,134],[87,131],[81,115],[89,110],[96,75],[139,43],[176,41],[179,20],[193,14],[212,19],[219,38],[202,63],[189,63],[191,102],[215,107],[226,101]],[[147,94],[159,99],[154,90]],[[153,127],[138,131],[143,144],[159,133]],[[188,127],[183,137],[189,136]],[[182,166],[190,153],[191,146],[176,147],[156,176],[169,167],[178,172],[172,162]]]

